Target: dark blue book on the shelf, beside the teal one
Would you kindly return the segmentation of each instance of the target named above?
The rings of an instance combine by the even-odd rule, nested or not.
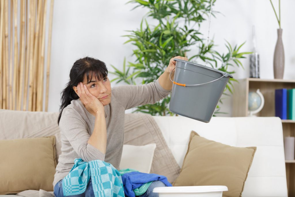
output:
[[[287,89],[275,90],[275,111],[276,116],[282,120],[287,119]]]

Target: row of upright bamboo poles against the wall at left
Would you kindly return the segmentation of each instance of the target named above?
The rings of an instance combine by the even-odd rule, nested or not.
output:
[[[0,0],[0,109],[42,111],[43,100],[48,105],[53,0],[45,54],[47,4],[47,0]]]

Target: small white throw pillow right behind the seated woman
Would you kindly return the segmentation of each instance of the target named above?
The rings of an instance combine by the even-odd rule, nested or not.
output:
[[[143,173],[150,173],[156,144],[144,146],[123,145],[120,169],[132,168]]]

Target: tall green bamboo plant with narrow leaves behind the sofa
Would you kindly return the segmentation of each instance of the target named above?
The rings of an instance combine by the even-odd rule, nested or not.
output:
[[[215,3],[216,0],[213,1]],[[230,66],[243,67],[240,58],[250,52],[239,52],[240,46],[232,47],[226,42],[228,52],[221,54],[214,50],[213,40],[210,40],[207,48],[207,40],[202,38],[199,27],[208,18],[210,13],[211,0],[132,0],[128,3],[137,7],[148,8],[147,16],[142,19],[139,29],[130,30],[125,43],[135,45],[132,56],[136,57],[135,62],[128,62],[124,59],[123,71],[111,65],[117,75],[113,79],[117,83],[136,84],[135,79],[139,78],[142,84],[154,82],[165,71],[169,60],[174,56],[186,56],[191,48],[198,48],[189,61],[225,71],[229,74]],[[212,12],[215,16],[217,12]],[[148,18],[158,21],[158,25],[152,26],[147,22]],[[207,58],[206,58],[207,57]],[[138,80],[138,79],[137,79]],[[230,79],[224,92],[229,90],[232,93],[232,82]],[[226,93],[224,93],[226,94]],[[170,96],[153,105],[143,105],[136,108],[134,112],[149,113],[151,115],[174,115],[169,111]],[[222,101],[220,101],[222,102]],[[217,105],[216,113],[222,113]]]

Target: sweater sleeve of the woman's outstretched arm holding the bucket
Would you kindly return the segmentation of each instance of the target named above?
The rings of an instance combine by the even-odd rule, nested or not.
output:
[[[144,85],[124,85],[113,88],[113,95],[125,109],[131,109],[139,105],[155,104],[167,97],[171,90],[164,89],[159,79]]]

